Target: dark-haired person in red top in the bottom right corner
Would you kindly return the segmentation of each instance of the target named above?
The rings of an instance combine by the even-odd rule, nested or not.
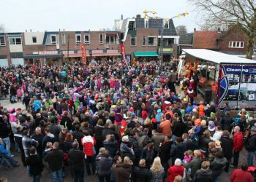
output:
[[[241,165],[241,170],[237,169],[234,170],[233,173],[230,175],[230,181],[231,182],[253,182],[254,179],[252,177],[252,174],[247,171],[248,165],[244,162]]]

